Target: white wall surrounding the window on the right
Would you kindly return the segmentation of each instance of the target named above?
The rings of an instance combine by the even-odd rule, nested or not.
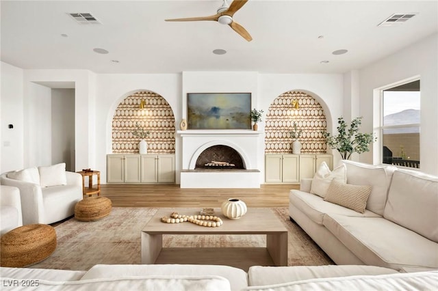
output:
[[[377,88],[385,87],[415,76],[420,76],[421,90],[421,133],[420,167],[421,170],[438,175],[438,34],[425,38],[398,53],[376,61],[359,70],[360,75],[360,114],[364,117],[364,132],[372,132],[373,110],[378,107]],[[360,161],[378,163],[380,143],[374,146],[375,152],[363,153]]]

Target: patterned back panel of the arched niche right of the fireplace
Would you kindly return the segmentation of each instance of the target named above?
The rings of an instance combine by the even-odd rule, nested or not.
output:
[[[295,100],[298,102],[298,109],[293,106]],[[293,140],[290,132],[294,122],[297,123],[298,130],[302,130],[302,154],[326,152],[323,133],[327,122],[324,109],[311,95],[289,91],[275,98],[266,113],[266,153],[292,153]]]

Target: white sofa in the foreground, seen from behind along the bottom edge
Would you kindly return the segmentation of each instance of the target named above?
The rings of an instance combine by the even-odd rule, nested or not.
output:
[[[438,271],[376,266],[96,265],[89,271],[0,268],[1,290],[435,290]]]

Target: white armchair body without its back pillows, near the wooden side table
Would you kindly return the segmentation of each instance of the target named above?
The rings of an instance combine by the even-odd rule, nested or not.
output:
[[[32,170],[35,171],[35,169]],[[40,168],[38,169],[40,170]],[[36,180],[26,182],[8,178],[10,173],[16,172],[1,174],[0,184],[16,186],[20,189],[24,225],[31,223],[54,223],[75,214],[75,205],[83,196],[82,177],[80,174],[65,171],[66,184],[40,186],[40,184],[36,184]],[[45,182],[47,182],[47,178],[50,179],[51,176],[46,176]],[[43,184],[42,180],[41,184]]]

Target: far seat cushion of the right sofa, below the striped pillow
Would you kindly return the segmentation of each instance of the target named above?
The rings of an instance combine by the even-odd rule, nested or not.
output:
[[[289,204],[293,204],[296,208],[306,214],[309,219],[315,223],[318,223],[319,225],[322,225],[322,220],[324,219],[324,214],[326,213],[342,214],[352,217],[381,217],[370,210],[365,210],[365,212],[359,213],[355,210],[326,202],[318,195],[313,195],[311,193],[302,192],[299,190],[290,191]]]

